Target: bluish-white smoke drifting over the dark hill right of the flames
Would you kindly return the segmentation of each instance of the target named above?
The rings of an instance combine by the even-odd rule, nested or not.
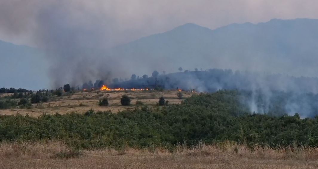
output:
[[[249,107],[251,112],[272,115],[299,113],[301,117],[318,115],[318,78],[209,69],[117,82],[110,87],[179,88],[198,92],[237,89],[241,103]]]

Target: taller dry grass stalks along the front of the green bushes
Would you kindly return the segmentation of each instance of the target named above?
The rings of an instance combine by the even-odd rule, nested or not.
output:
[[[26,158],[26,159],[49,159],[49,158],[79,158],[82,155],[100,156],[183,156],[183,157],[215,157],[215,158],[247,158],[259,160],[318,160],[318,148],[287,147],[272,149],[270,147],[255,146],[252,149],[245,145],[233,142],[224,142],[216,145],[197,144],[192,148],[187,145],[176,146],[173,152],[165,148],[133,149],[126,148],[115,150],[111,148],[101,150],[76,151],[69,148],[62,141],[39,141],[39,142],[14,142],[0,143],[0,159],[3,158]]]

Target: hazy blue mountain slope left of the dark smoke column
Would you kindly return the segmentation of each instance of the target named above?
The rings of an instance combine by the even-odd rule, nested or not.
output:
[[[37,90],[49,86],[48,63],[37,49],[0,40],[0,87]]]

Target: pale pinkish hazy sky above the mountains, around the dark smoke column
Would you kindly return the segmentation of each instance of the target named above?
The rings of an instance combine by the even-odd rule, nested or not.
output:
[[[0,0],[0,39],[40,46],[34,38],[38,27],[54,26],[41,20],[47,11],[64,24],[98,32],[105,46],[114,46],[189,22],[214,29],[272,18],[318,18],[317,9],[316,0]]]

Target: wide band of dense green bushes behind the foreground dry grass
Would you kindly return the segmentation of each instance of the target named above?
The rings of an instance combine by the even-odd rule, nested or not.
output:
[[[225,140],[253,145],[317,146],[318,118],[250,114],[238,91],[218,91],[180,105],[118,113],[0,116],[0,141],[62,139],[73,148],[167,147]]]

